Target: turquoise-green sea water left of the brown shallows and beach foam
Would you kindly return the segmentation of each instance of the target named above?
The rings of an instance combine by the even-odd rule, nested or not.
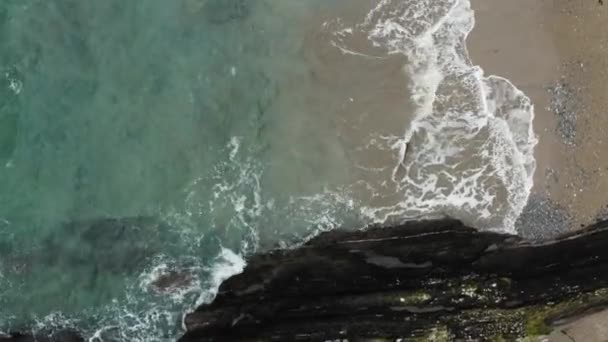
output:
[[[305,99],[281,94],[313,77],[298,21],[331,6],[2,1],[0,330],[69,322],[107,327],[105,341],[169,338],[222,248],[348,217],[306,199],[348,180],[341,152],[326,151],[331,122],[295,118]],[[90,228],[128,217],[151,219]],[[177,265],[197,288],[145,286]]]

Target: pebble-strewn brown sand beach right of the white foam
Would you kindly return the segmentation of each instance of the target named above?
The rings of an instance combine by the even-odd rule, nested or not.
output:
[[[608,213],[608,6],[596,0],[473,0],[468,45],[486,74],[504,76],[535,104],[539,143],[528,237]],[[542,227],[553,226],[548,232]]]

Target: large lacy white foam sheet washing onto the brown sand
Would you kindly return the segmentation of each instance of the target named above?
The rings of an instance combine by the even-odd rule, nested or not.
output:
[[[449,215],[514,232],[536,165],[534,110],[511,82],[472,64],[465,41],[474,22],[469,0],[382,0],[355,28],[407,57],[417,108],[402,136],[384,137],[402,200],[364,207],[371,220]],[[349,32],[342,28],[336,41]]]

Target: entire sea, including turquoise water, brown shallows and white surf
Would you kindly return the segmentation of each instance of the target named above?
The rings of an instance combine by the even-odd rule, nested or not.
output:
[[[465,0],[15,0],[0,27],[0,330],[170,340],[256,250],[512,231],[529,194],[532,106],[469,61]]]

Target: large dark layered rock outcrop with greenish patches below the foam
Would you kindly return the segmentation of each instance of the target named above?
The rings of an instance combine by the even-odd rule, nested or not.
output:
[[[254,256],[180,341],[514,340],[607,304],[608,222],[544,243],[417,222]]]

